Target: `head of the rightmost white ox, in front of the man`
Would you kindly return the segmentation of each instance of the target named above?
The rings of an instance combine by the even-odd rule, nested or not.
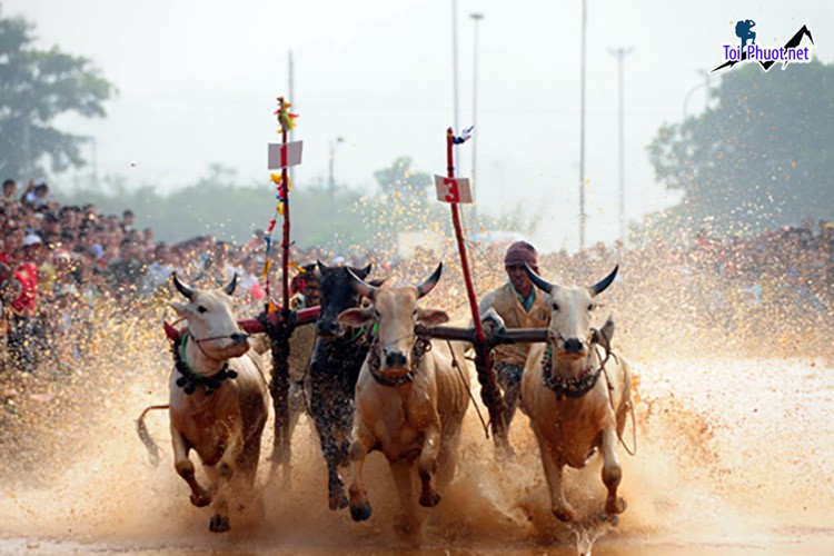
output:
[[[525,265],[525,269],[533,284],[547,294],[545,305],[549,306],[552,311],[549,334],[555,355],[564,359],[587,357],[593,338],[590,311],[597,306],[594,298],[610,286],[619,266],[614,267],[608,276],[587,288],[550,284],[530,267]]]

